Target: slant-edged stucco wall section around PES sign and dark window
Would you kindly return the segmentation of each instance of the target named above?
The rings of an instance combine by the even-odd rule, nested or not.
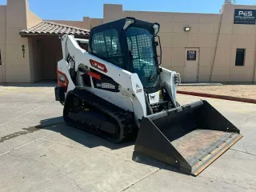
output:
[[[234,25],[234,9],[256,10],[256,6],[226,4],[217,40],[212,81],[253,82],[256,57],[256,26]],[[245,66],[235,66],[236,49],[246,49]]]

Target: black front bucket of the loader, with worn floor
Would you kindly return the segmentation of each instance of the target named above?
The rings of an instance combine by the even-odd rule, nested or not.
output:
[[[142,118],[134,150],[198,175],[242,138],[206,101]]]

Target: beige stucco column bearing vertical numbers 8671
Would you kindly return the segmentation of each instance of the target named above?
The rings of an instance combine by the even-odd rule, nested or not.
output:
[[[6,6],[6,82],[31,82],[29,43],[19,32],[26,29],[26,0],[8,0]],[[22,46],[25,50],[24,54]]]

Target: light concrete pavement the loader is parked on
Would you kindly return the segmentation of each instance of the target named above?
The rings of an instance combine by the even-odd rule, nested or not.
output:
[[[178,95],[182,104],[198,97]],[[256,105],[206,98],[238,143],[198,177],[63,123],[52,86],[0,86],[1,191],[256,191]]]

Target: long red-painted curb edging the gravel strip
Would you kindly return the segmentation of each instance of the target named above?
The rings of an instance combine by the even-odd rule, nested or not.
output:
[[[218,94],[202,94],[202,93],[195,93],[195,92],[182,91],[182,90],[178,90],[177,93],[178,94],[188,94],[188,95],[204,97],[204,98],[218,98],[218,99],[230,100],[230,101],[235,101],[235,102],[249,102],[249,103],[256,104],[256,100],[251,99],[251,98],[235,98],[235,97],[231,97],[231,96],[224,96],[224,95],[218,95]]]

